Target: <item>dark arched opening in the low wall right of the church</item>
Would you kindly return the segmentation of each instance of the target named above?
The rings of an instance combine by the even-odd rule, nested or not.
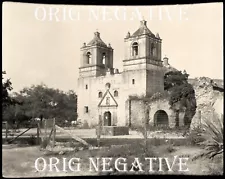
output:
[[[155,126],[168,126],[169,125],[169,117],[164,110],[158,110],[154,114],[154,124],[155,124]]]

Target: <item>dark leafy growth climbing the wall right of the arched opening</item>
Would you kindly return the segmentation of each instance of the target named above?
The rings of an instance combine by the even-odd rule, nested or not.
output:
[[[191,119],[196,112],[195,91],[188,83],[188,74],[181,71],[170,71],[164,76],[164,89],[170,92],[169,104],[177,111],[185,109],[184,123],[190,127]]]

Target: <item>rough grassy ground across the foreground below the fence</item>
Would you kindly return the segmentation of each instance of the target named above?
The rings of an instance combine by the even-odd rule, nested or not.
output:
[[[175,142],[176,141],[176,142]],[[96,140],[87,139],[87,142],[96,145]],[[2,171],[4,177],[40,177],[40,176],[78,176],[78,175],[104,175],[105,173],[89,171],[89,157],[124,157],[128,161],[135,157],[168,157],[172,159],[174,156],[189,157],[187,166],[189,172],[175,171],[172,174],[191,174],[191,175],[212,175],[222,174],[223,165],[221,158],[209,160],[207,158],[200,158],[192,161],[191,158],[203,149],[198,146],[187,145],[185,142],[177,142],[177,140],[164,141],[163,139],[155,139],[148,141],[148,151],[143,150],[143,140],[141,139],[104,139],[102,140],[102,148],[95,148],[93,150],[78,149],[74,147],[73,151],[69,151],[66,147],[58,147],[59,150],[41,151],[38,146],[18,146],[18,145],[3,145],[2,154]],[[56,147],[57,148],[57,147]],[[64,151],[63,153],[61,151]],[[58,168],[59,172],[45,170],[44,172],[37,172],[34,166],[35,160],[43,157],[46,161],[50,157],[57,157],[60,161],[62,158],[81,158],[81,171],[62,171],[62,163],[60,162]],[[40,164],[43,165],[43,164]],[[164,165],[165,167],[165,165]],[[176,167],[175,167],[176,168]],[[118,175],[121,173],[114,172]],[[129,174],[129,173],[126,173]],[[142,173],[140,173],[142,174]],[[159,174],[159,173],[148,173]],[[162,173],[166,174],[166,172]]]

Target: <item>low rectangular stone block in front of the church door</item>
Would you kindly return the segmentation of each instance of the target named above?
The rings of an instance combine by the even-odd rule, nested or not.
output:
[[[98,129],[96,129],[97,132]],[[103,126],[101,134],[110,136],[129,135],[129,128],[126,126]]]

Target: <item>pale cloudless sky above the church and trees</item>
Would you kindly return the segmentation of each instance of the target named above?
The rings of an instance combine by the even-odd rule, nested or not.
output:
[[[3,3],[2,68],[13,91],[44,83],[77,89],[80,48],[94,37],[114,49],[122,71],[124,38],[146,20],[162,38],[162,58],[190,78],[223,79],[223,4],[76,6]]]

